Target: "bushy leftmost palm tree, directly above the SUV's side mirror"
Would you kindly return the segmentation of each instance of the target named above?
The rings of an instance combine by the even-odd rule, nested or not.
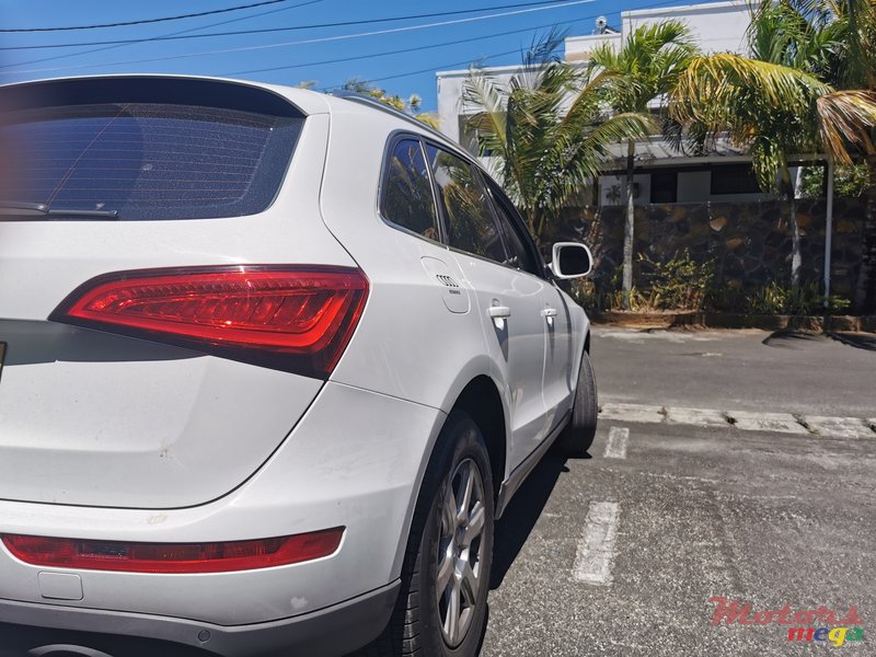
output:
[[[569,200],[599,175],[610,146],[653,129],[645,114],[607,117],[602,99],[613,73],[589,74],[562,61],[561,44],[554,34],[534,44],[506,84],[472,67],[463,89],[466,105],[477,110],[468,127],[480,152],[496,158],[497,173],[540,245]]]

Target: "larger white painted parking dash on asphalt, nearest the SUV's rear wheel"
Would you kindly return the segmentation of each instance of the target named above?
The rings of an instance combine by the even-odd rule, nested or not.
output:
[[[614,560],[614,537],[620,514],[621,505],[616,502],[590,503],[572,570],[575,580],[596,586],[611,584],[611,562]]]

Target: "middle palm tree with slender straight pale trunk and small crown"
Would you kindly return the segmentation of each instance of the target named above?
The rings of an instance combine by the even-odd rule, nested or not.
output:
[[[690,30],[680,21],[662,21],[633,30],[620,49],[601,44],[590,56],[591,70],[613,76],[608,100],[618,113],[647,113],[652,101],[661,99],[696,55]],[[626,223],[623,239],[623,304],[631,309],[633,245],[635,231],[636,139],[626,139]]]

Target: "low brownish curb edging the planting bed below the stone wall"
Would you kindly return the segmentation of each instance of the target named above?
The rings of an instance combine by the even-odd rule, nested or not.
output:
[[[627,328],[762,328],[876,332],[876,315],[747,315],[718,312],[588,311],[593,324]]]

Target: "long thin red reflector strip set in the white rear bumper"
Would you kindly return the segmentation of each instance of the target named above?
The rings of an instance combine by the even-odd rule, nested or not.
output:
[[[126,573],[228,573],[285,566],[333,554],[344,528],[224,543],[123,543],[4,534],[19,560],[36,566]]]

